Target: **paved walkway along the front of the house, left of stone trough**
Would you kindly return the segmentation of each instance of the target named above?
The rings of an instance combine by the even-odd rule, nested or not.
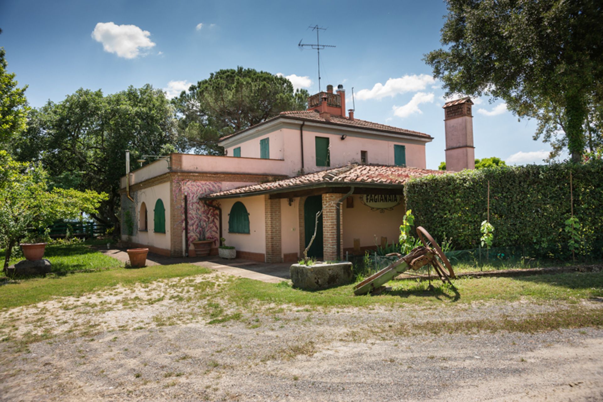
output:
[[[125,249],[99,249],[99,251],[119,261],[129,261],[128,253]],[[217,255],[212,257],[164,257],[163,255],[151,252],[147,255],[147,266],[182,263],[194,264],[215,269],[229,275],[269,283],[279,283],[289,279],[289,267],[291,266],[291,263],[258,263],[257,261],[243,260],[242,258],[225,260],[224,258],[219,258]]]

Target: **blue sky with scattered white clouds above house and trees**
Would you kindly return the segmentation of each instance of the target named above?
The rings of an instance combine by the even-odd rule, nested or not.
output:
[[[150,83],[176,93],[222,68],[255,68],[318,90],[308,25],[321,42],[321,86],[354,88],[356,118],[428,133],[428,168],[444,160],[440,83],[421,60],[440,47],[446,7],[433,1],[10,1],[0,2],[0,46],[8,71],[28,85],[34,107],[78,88],[106,94]],[[201,25],[200,25],[201,24]],[[476,158],[541,162],[550,146],[532,140],[502,101],[476,100]],[[351,104],[350,104],[351,107]]]

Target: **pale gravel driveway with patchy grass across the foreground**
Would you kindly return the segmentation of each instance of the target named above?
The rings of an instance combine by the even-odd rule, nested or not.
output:
[[[208,278],[228,280],[212,273],[0,313],[0,400],[603,400],[601,329],[393,330],[406,322],[554,314],[571,305],[263,305],[209,324],[211,311],[230,307],[185,297]]]

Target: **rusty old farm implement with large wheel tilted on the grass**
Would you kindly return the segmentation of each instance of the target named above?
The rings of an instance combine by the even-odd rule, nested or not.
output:
[[[388,254],[397,255],[400,258],[356,285],[354,287],[354,294],[366,295],[367,293],[375,292],[401,273],[409,269],[418,270],[420,267],[428,264],[432,264],[435,272],[443,282],[450,283],[450,278],[455,278],[454,271],[440,246],[435,243],[434,238],[422,226],[418,226],[417,235],[423,246],[412,249],[404,257],[400,257],[401,254],[398,253]]]

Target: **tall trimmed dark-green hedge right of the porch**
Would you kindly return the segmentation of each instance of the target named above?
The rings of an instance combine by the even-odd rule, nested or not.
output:
[[[437,240],[452,237],[456,249],[478,247],[479,224],[487,216],[494,246],[528,247],[539,255],[567,257],[570,217],[570,171],[573,211],[581,223],[579,253],[603,255],[603,162],[466,170],[413,179],[405,185],[406,206],[417,226]]]

